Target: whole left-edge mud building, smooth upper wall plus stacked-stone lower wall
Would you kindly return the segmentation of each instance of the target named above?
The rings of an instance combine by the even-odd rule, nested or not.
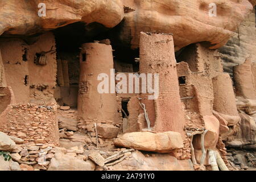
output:
[[[35,39],[30,45],[21,39],[0,39],[7,85],[0,89],[0,94],[6,95],[0,98],[0,131],[25,142],[58,144],[59,129],[53,108],[56,107],[55,38],[48,32]],[[46,64],[36,64],[36,53],[51,49],[46,54]]]

